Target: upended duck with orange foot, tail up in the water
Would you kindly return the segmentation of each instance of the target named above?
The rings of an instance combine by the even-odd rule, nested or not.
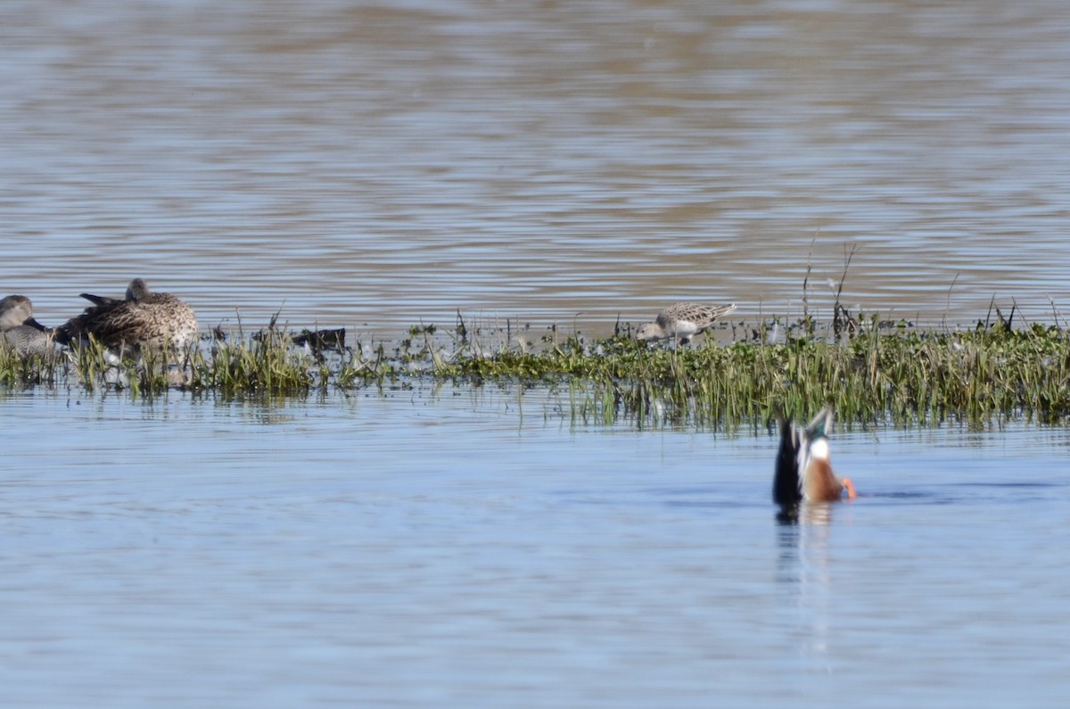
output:
[[[773,478],[773,500],[782,509],[800,502],[835,502],[855,498],[850,478],[832,472],[828,434],[832,431],[832,410],[824,408],[805,428],[777,416],[780,424],[780,449]]]

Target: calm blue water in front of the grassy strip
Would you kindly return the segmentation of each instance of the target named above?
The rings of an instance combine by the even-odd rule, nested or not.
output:
[[[764,432],[561,396],[6,396],[7,700],[1061,706],[1065,431],[839,433],[783,526]]]

